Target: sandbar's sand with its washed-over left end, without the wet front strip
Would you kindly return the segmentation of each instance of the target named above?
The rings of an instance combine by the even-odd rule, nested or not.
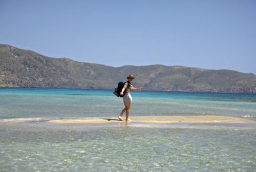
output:
[[[170,124],[170,123],[243,123],[256,124],[256,121],[246,118],[225,117],[216,115],[196,116],[140,116],[131,117],[131,122],[143,124]],[[115,124],[120,123],[117,117],[86,117],[86,118],[6,118],[0,122],[47,122],[48,124]]]

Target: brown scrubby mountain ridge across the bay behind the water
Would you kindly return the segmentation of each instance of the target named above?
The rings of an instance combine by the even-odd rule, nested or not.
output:
[[[0,45],[0,87],[113,89],[129,73],[147,90],[256,93],[256,75],[184,66],[122,66],[51,58]]]

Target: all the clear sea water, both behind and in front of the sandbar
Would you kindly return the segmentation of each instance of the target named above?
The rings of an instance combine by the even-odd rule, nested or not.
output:
[[[132,92],[132,116],[256,117],[255,94]],[[111,90],[0,89],[0,118],[116,117]],[[0,171],[256,171],[256,128],[0,122]]]

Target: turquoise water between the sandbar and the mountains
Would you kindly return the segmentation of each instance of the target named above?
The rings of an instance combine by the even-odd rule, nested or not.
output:
[[[256,117],[256,94],[132,92],[131,116],[227,115]],[[115,117],[122,99],[111,90],[0,89],[0,118]]]

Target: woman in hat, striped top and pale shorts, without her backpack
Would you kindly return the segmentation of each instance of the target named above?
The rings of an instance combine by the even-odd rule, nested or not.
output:
[[[131,96],[131,90],[142,90],[142,87],[133,87],[132,86],[132,81],[134,80],[134,76],[132,74],[130,74],[129,76],[127,76],[127,82],[125,82],[124,84],[124,88],[122,89],[122,91],[120,92],[120,95],[124,95],[124,91],[125,91],[125,95],[123,97],[123,101],[124,101],[124,109],[121,111],[118,119],[123,121],[123,114],[125,112],[126,114],[126,118],[125,121],[131,121],[129,120],[129,112],[130,112],[130,108],[131,108],[131,103],[132,103],[132,96]]]

